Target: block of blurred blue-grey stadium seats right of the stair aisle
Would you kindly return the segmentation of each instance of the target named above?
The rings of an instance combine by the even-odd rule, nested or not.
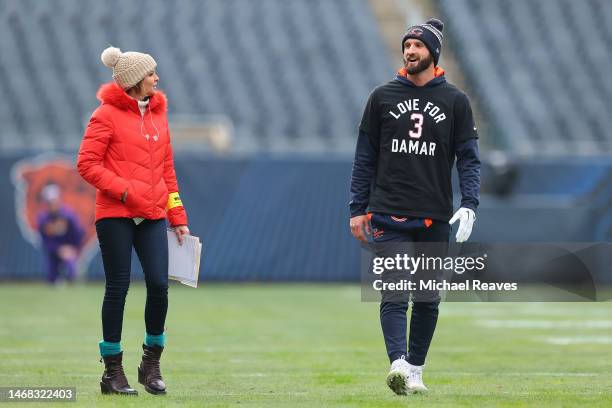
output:
[[[606,1],[441,0],[494,135],[519,153],[612,151]]]

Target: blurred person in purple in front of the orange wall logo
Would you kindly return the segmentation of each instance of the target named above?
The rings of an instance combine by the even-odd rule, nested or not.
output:
[[[60,271],[68,282],[74,281],[76,265],[85,231],[77,215],[61,201],[60,188],[49,184],[41,197],[46,209],[38,215],[38,231],[44,253],[46,279],[55,284]]]

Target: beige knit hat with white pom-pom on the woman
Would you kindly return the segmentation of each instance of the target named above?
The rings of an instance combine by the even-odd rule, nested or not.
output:
[[[100,59],[104,65],[113,69],[113,79],[123,89],[130,89],[157,67],[157,62],[149,54],[121,52],[115,47],[102,51]]]

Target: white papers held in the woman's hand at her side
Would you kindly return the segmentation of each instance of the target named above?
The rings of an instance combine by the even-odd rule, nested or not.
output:
[[[193,235],[183,235],[179,245],[173,230],[168,230],[168,278],[193,288],[198,287],[202,243]]]

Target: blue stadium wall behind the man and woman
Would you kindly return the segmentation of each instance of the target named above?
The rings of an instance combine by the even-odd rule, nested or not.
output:
[[[16,217],[10,172],[24,157],[0,158],[0,279],[43,278],[39,250],[22,236]],[[178,154],[175,162],[190,228],[203,241],[202,279],[359,279],[359,246],[348,229],[350,158]],[[474,241],[612,238],[609,159],[525,161],[518,167],[513,194],[483,194]],[[99,254],[85,274],[103,277]],[[132,275],[142,276],[135,254]]]

